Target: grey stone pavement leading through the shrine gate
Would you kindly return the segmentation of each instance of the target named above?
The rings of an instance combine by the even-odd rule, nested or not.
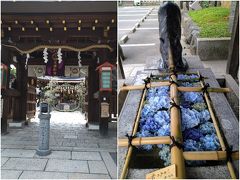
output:
[[[1,137],[2,179],[109,179],[117,177],[116,123],[108,137],[89,131],[80,112],[52,112],[48,156],[36,155],[39,120]]]

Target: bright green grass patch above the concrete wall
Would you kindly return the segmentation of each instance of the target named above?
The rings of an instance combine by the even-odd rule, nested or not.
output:
[[[228,31],[230,9],[210,7],[189,11],[189,16],[201,28],[200,37],[229,37]]]

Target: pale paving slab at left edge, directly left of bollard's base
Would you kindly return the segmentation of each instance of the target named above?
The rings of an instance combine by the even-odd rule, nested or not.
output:
[[[6,149],[2,152],[2,157],[33,157],[35,150],[26,149]]]

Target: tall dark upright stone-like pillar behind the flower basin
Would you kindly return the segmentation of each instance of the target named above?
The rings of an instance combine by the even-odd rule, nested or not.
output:
[[[182,57],[181,11],[172,2],[165,2],[158,11],[161,63],[159,69],[168,68],[168,48],[172,50],[175,71],[186,71],[187,61]]]

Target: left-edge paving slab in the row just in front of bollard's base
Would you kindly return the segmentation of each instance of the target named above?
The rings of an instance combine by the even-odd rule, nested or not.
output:
[[[43,170],[47,163],[47,159],[31,159],[31,158],[10,158],[2,169],[10,170]]]

